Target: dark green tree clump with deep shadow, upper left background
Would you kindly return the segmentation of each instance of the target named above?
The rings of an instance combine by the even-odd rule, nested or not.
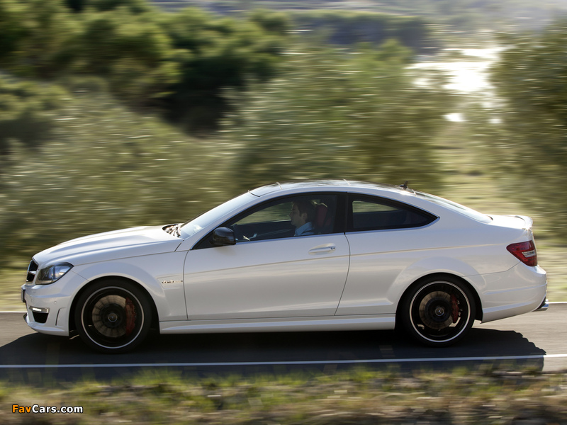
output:
[[[228,108],[225,88],[275,74],[289,28],[281,13],[164,13],[147,0],[0,0],[0,24],[4,71],[62,84],[101,77],[129,106],[208,130]]]

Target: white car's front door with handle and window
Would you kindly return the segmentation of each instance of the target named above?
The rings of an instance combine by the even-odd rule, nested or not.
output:
[[[235,232],[234,245],[212,246],[208,235],[189,251],[184,270],[189,319],[335,314],[349,268],[342,221],[337,225],[339,195],[303,196],[324,216],[313,217],[313,231],[303,236],[295,236],[291,225],[297,199],[271,200],[225,222]]]

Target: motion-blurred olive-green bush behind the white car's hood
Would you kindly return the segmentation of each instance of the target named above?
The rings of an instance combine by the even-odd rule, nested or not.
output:
[[[225,200],[213,149],[108,95],[67,94],[52,140],[0,174],[0,261],[86,234],[184,222]]]

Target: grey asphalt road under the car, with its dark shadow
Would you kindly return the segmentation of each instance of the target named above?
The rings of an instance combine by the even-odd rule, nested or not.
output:
[[[420,346],[394,331],[155,334],[133,352],[105,355],[91,351],[79,336],[34,332],[23,313],[0,313],[0,319],[0,378],[16,382],[113,379],[156,368],[192,375],[332,371],[353,365],[451,370],[483,363],[567,370],[567,303],[476,322],[464,341],[448,348]]]

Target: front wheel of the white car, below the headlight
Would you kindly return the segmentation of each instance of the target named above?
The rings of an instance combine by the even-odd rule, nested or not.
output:
[[[147,336],[152,308],[147,295],[135,284],[104,280],[79,296],[74,311],[81,339],[101,353],[125,353]]]

